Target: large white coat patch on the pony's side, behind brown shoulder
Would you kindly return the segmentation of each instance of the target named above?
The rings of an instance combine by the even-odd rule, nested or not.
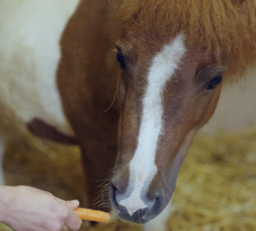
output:
[[[79,0],[0,1],[0,99],[25,122],[68,132],[55,73],[59,40]]]

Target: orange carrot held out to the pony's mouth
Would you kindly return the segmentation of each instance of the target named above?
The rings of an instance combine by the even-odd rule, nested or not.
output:
[[[85,219],[89,221],[97,221],[102,223],[108,223],[110,219],[110,214],[97,211],[97,210],[88,210],[83,208],[78,208],[74,210],[80,219]]]

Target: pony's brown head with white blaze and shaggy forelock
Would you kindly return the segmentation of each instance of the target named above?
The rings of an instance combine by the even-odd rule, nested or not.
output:
[[[145,223],[164,210],[222,83],[255,60],[254,1],[114,1],[121,116],[111,204]]]

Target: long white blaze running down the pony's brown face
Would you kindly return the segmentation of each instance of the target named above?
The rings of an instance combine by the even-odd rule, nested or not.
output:
[[[155,153],[163,126],[163,92],[186,52],[184,35],[179,34],[155,55],[148,74],[148,86],[143,99],[143,112],[135,155],[130,161],[130,195],[119,202],[130,215],[148,205],[141,198],[157,172]]]

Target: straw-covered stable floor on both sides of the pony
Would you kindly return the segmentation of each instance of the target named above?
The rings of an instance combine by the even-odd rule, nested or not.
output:
[[[21,139],[22,135],[22,139]],[[4,160],[7,184],[30,185],[85,203],[78,148],[17,134]],[[243,134],[199,137],[192,145],[173,196],[172,231],[256,230],[256,129]],[[9,230],[0,225],[0,230]],[[116,222],[81,230],[130,231]]]

